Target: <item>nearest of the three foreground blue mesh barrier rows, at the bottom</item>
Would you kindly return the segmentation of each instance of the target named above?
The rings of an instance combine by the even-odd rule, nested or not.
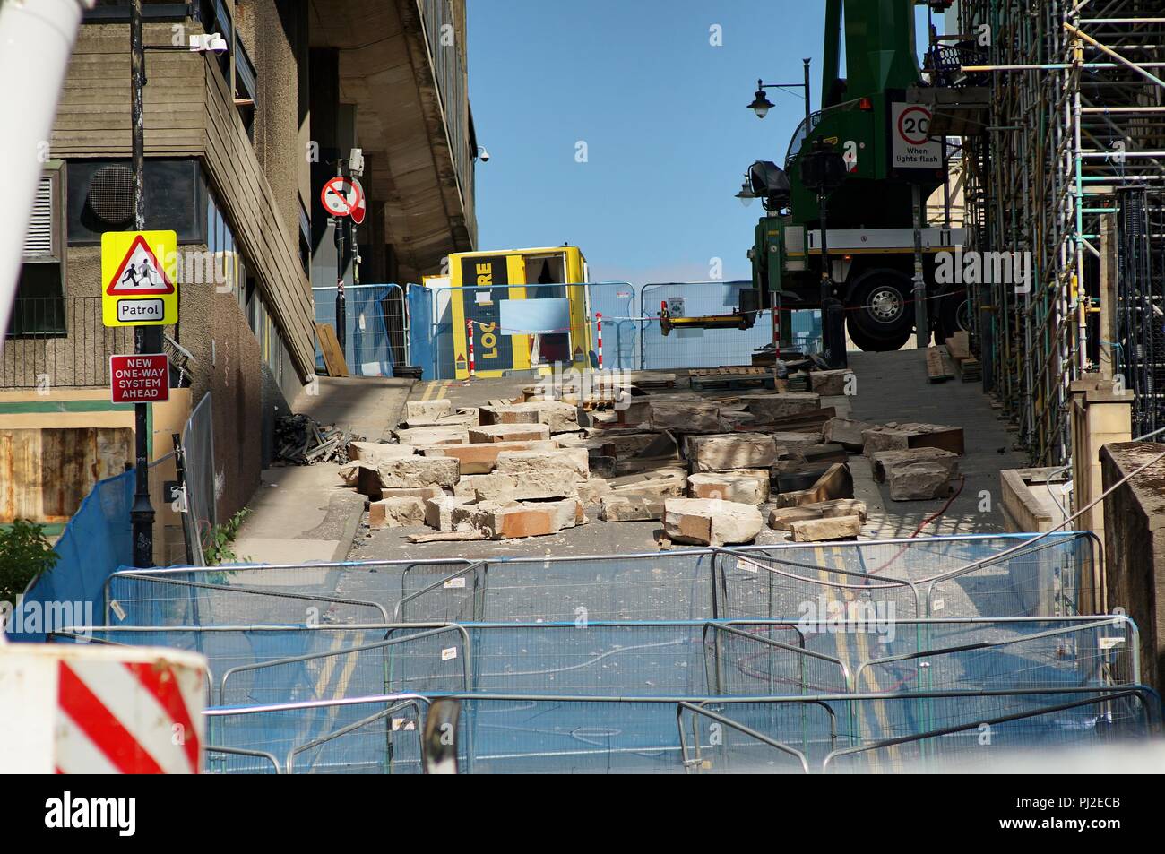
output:
[[[1030,761],[1036,749],[1062,758],[1160,733],[1160,698],[1141,685],[747,698],[454,692],[204,714],[206,770],[218,774],[421,774],[435,753],[425,733],[443,729],[431,718],[456,734],[439,749],[464,774],[984,770]]]

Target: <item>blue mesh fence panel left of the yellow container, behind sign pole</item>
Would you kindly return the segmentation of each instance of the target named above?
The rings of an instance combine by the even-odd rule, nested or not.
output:
[[[336,287],[312,288],[316,323],[336,327]],[[398,284],[353,284],[344,288],[344,358],[353,376],[391,376],[394,365],[409,364],[409,315]],[[324,357],[316,347],[316,369]]]

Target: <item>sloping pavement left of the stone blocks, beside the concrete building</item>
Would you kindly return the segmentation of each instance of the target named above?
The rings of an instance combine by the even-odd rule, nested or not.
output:
[[[379,376],[322,376],[318,383],[318,394],[301,395],[294,410],[370,442],[389,437],[414,386]],[[266,564],[346,559],[365,499],[344,487],[339,468],[337,463],[264,468],[234,553]]]

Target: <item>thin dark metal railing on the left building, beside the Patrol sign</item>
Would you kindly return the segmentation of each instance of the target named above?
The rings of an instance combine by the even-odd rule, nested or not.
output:
[[[0,354],[0,388],[110,384],[110,357],[134,352],[129,327],[107,329],[101,297],[19,297]]]

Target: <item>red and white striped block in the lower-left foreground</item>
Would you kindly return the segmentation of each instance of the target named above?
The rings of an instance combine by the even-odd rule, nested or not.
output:
[[[0,644],[0,774],[198,774],[206,659]]]

